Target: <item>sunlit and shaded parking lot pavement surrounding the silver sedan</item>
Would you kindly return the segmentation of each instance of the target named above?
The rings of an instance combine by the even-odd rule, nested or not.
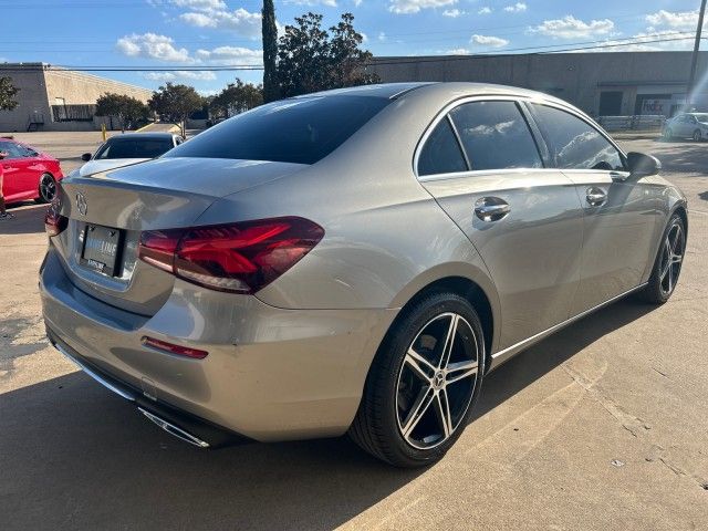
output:
[[[657,155],[689,198],[674,296],[615,303],[503,365],[458,444],[417,471],[346,438],[204,451],[164,434],[48,346],[45,207],[12,208],[0,529],[708,529],[708,144],[622,144]],[[86,150],[54,147],[66,173]]]

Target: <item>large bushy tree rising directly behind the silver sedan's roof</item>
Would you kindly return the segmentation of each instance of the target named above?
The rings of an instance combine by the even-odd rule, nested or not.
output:
[[[278,45],[281,95],[376,83],[378,77],[366,71],[372,54],[360,48],[363,40],[352,13],[344,13],[329,32],[322,29],[321,14],[295,18],[295,25],[285,27]]]

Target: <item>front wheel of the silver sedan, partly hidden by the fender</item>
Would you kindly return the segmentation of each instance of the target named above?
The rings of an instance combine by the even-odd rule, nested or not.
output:
[[[674,214],[662,235],[649,282],[638,293],[642,301],[648,304],[664,304],[670,299],[681,272],[685,253],[686,226],[684,218]]]

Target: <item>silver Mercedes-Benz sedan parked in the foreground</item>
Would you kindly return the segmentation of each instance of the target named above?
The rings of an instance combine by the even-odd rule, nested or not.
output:
[[[628,293],[671,295],[687,207],[658,169],[519,88],[272,103],[62,183],[48,334],[194,445],[348,431],[431,464],[489,371]]]

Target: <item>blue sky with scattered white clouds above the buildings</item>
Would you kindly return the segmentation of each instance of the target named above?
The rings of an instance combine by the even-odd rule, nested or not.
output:
[[[494,53],[579,48],[688,50],[699,0],[277,0],[279,24],[306,11],[336,22],[351,11],[374,55]],[[259,0],[0,0],[0,62],[72,66],[199,67],[261,62]],[[625,42],[625,41],[620,41]],[[556,48],[542,48],[556,46]],[[528,49],[528,50],[524,50]],[[165,81],[218,92],[261,72],[96,73],[156,88]]]

